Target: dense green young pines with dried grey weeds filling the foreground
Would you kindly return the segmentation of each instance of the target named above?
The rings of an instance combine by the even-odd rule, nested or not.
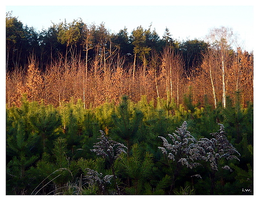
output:
[[[253,104],[239,93],[224,109],[21,102],[6,108],[7,195],[253,194]]]

